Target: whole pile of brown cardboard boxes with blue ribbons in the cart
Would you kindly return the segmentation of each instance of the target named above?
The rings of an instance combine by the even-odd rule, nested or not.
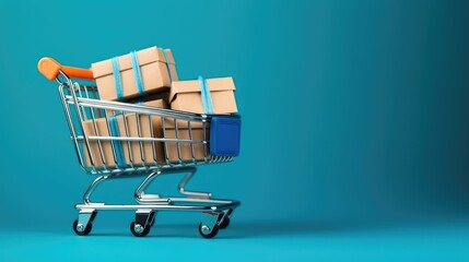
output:
[[[99,98],[103,100],[124,103],[143,100],[144,106],[195,114],[237,112],[232,78],[179,81],[169,49],[151,47],[130,52],[93,63],[92,71]],[[188,123],[178,121],[176,132],[173,119],[161,119],[156,116],[137,118],[136,114],[122,116],[112,110],[106,111],[106,115],[107,118],[85,120],[83,122],[85,134],[157,139],[177,136],[183,140],[188,140],[191,135],[192,140],[203,140],[200,123],[192,123],[189,132]],[[195,144],[192,151],[188,143],[178,145],[176,142],[90,141],[93,159],[86,147],[85,145],[85,165],[95,167],[163,164],[166,157],[169,162],[179,162],[179,157],[181,160],[191,160],[192,155],[196,160],[204,157],[202,144]],[[116,154],[113,154],[113,150]]]

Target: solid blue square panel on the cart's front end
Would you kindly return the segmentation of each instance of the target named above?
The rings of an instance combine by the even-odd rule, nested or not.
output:
[[[214,116],[210,123],[210,154],[238,156],[241,138],[239,116]]]

